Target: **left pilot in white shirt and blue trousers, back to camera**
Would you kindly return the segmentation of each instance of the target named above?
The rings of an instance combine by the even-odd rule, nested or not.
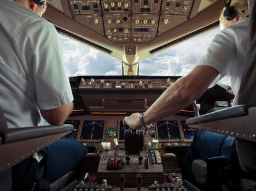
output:
[[[8,128],[39,126],[41,116],[61,125],[73,107],[58,33],[41,17],[45,10],[46,0],[0,4],[0,105]],[[12,190],[31,190],[41,165],[41,178],[54,182],[87,153],[76,140],[58,140],[12,168]]]

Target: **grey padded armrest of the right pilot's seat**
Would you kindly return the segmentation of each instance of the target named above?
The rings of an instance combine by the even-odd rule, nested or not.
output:
[[[256,105],[237,105],[234,107],[225,108],[223,110],[207,113],[205,115],[197,116],[195,118],[190,118],[186,121],[186,125],[197,124],[197,123],[207,123],[211,121],[234,118],[238,116],[245,116],[248,114],[248,108],[255,107],[255,106]]]

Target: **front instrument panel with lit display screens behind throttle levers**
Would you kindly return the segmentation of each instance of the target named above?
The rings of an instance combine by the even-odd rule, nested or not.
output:
[[[158,139],[159,144],[154,147],[161,148],[163,145],[169,146],[188,146],[194,137],[197,129],[186,126],[186,116],[174,115],[156,123],[145,131],[145,145],[153,139]],[[65,139],[76,139],[83,144],[100,148],[101,142],[111,142],[114,148],[113,139],[117,139],[119,147],[124,148],[124,128],[122,120],[124,115],[85,115],[72,116],[66,121],[68,124],[74,124],[75,130]]]

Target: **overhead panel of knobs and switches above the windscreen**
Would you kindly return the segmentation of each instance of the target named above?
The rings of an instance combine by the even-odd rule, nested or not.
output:
[[[148,43],[186,22],[193,0],[69,0],[72,15],[113,43]]]

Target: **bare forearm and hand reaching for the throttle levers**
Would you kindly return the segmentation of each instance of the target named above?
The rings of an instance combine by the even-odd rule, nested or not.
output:
[[[207,90],[218,74],[218,71],[213,67],[205,65],[195,67],[189,75],[176,81],[173,86],[170,86],[158,97],[144,113],[144,123],[153,123],[187,107]],[[139,116],[140,113],[133,113],[124,120],[130,128],[139,129],[142,127]]]

